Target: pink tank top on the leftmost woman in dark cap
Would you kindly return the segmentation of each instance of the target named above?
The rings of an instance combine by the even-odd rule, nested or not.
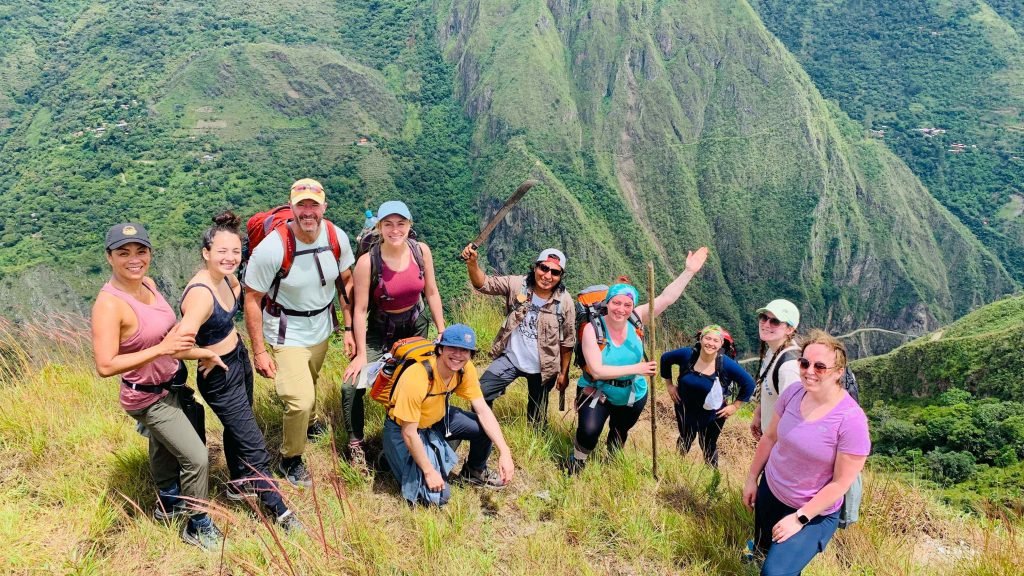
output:
[[[171,328],[174,327],[174,323],[177,322],[174,311],[171,310],[170,304],[167,303],[164,296],[160,292],[150,288],[147,284],[142,283],[142,285],[153,292],[156,298],[154,303],[146,304],[140,302],[124,290],[114,287],[110,282],[103,284],[103,287],[100,289],[101,292],[113,294],[127,302],[138,320],[138,330],[129,336],[127,340],[121,341],[118,345],[118,354],[131,354],[159,344],[164,339],[164,336],[171,331]],[[133,384],[154,386],[170,380],[177,371],[178,361],[176,359],[169,356],[161,356],[148,364],[125,372],[121,377]],[[165,396],[167,396],[167,390],[163,390],[160,394],[151,394],[133,390],[128,386],[121,386],[121,407],[125,410],[141,410]]]

